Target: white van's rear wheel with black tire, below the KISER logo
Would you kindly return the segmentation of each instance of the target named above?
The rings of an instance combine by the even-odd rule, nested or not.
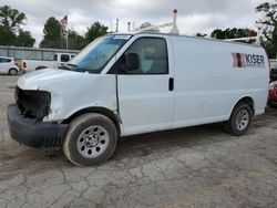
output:
[[[249,105],[240,103],[235,106],[230,118],[224,124],[224,129],[234,136],[247,133],[253,118],[253,110]]]

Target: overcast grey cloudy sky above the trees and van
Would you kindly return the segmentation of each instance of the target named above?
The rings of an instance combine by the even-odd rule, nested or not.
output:
[[[115,30],[127,31],[127,22],[140,27],[143,22],[161,24],[172,21],[172,10],[178,10],[177,25],[182,34],[209,33],[220,28],[256,29],[260,17],[255,8],[266,0],[0,0],[27,14],[25,30],[30,30],[37,44],[43,38],[43,25],[50,17],[61,20],[66,13],[69,28],[84,34],[86,28],[100,21]],[[274,0],[268,0],[274,1]],[[170,29],[163,29],[164,32]]]

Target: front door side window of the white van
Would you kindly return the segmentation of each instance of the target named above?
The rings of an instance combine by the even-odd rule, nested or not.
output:
[[[137,39],[115,64],[120,74],[167,74],[166,41],[162,38]],[[112,69],[115,72],[115,69]]]

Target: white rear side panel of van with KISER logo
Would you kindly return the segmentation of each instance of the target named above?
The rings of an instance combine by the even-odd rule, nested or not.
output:
[[[175,56],[173,127],[227,121],[243,97],[264,113],[269,82],[267,55],[254,45],[172,37]]]

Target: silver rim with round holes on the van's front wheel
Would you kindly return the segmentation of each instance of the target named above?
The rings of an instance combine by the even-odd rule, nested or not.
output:
[[[110,136],[105,128],[90,126],[80,134],[76,146],[83,157],[95,158],[105,152],[109,142]]]

